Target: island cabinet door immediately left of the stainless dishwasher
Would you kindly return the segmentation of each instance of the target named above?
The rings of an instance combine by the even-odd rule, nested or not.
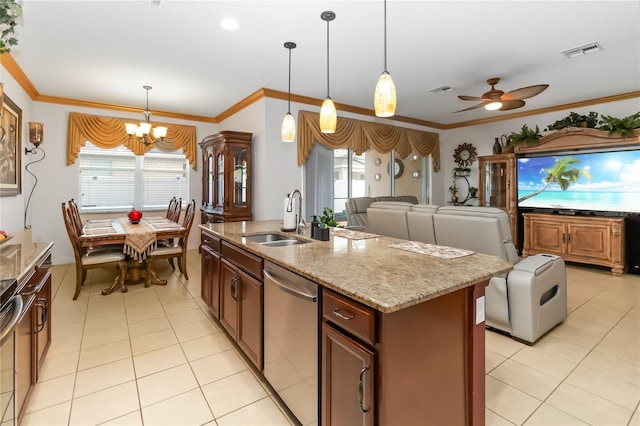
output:
[[[258,370],[262,371],[263,285],[241,270],[238,271],[238,276],[240,277],[238,345]]]

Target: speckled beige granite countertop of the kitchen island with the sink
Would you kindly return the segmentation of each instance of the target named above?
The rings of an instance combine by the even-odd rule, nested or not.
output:
[[[210,234],[385,313],[434,299],[512,269],[510,263],[484,254],[442,259],[389,247],[404,242],[396,238],[353,240],[331,235],[329,241],[318,241],[310,238],[310,229],[297,235],[282,232],[281,227],[279,220],[200,225]],[[310,242],[268,247],[243,238],[243,235],[267,231]]]

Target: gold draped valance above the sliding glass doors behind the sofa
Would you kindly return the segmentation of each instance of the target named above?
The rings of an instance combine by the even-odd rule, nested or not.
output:
[[[440,170],[440,138],[433,132],[339,117],[336,132],[326,134],[320,131],[320,114],[300,111],[298,113],[299,166],[307,161],[316,141],[328,149],[351,148],[358,155],[370,148],[382,154],[394,150],[400,158],[406,158],[412,152],[423,157],[431,154],[433,171]]]

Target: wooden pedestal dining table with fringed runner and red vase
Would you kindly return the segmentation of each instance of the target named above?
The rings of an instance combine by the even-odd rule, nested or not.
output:
[[[125,282],[146,279],[144,266],[149,253],[159,243],[172,242],[174,238],[183,236],[184,230],[179,223],[161,216],[142,218],[138,222],[132,222],[127,217],[92,219],[83,225],[79,240],[87,250],[122,245],[123,253],[128,257],[126,278],[124,282],[116,278],[111,286],[102,290],[102,294],[107,295],[117,288],[126,292]],[[148,281],[156,285],[167,284],[167,280],[160,279],[153,270]]]

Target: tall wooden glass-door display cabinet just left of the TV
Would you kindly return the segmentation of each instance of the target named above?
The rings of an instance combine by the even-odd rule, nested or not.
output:
[[[515,154],[478,157],[478,205],[498,207],[509,215],[511,240],[518,242],[518,187]]]

